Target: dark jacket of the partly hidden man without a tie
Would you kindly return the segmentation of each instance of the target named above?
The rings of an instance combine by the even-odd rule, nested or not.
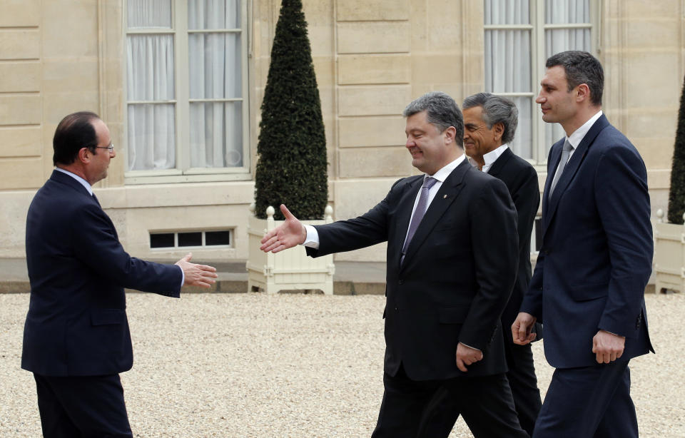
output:
[[[523,301],[523,295],[528,290],[532,269],[530,267],[530,235],[533,230],[535,215],[540,205],[540,188],[537,181],[537,172],[533,166],[520,158],[507,148],[497,158],[488,173],[495,178],[504,181],[512,196],[518,215],[517,230],[519,233],[519,270],[509,298],[507,307],[502,313],[502,330],[507,340],[506,345],[512,345],[512,337],[509,336],[512,324],[516,320]],[[542,330],[539,336],[542,335]],[[508,357],[512,357],[508,355]],[[509,362],[509,365],[512,365]]]

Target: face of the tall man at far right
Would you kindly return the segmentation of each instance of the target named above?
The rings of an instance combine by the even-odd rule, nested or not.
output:
[[[542,120],[547,123],[559,123],[562,126],[572,121],[577,113],[577,88],[569,91],[564,67],[547,68],[540,81],[540,93],[535,99],[542,110]]]

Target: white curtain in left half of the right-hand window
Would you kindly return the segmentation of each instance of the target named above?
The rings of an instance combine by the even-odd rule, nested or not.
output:
[[[485,24],[530,24],[529,0],[485,0]],[[485,31],[485,90],[490,93],[529,93],[531,91],[531,34],[528,29],[488,29]],[[519,110],[519,123],[512,151],[532,158],[532,101],[513,97]]]

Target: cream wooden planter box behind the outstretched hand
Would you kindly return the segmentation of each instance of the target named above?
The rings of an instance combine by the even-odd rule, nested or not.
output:
[[[264,253],[259,249],[260,240],[268,231],[278,227],[283,220],[274,220],[273,207],[266,209],[266,219],[255,218],[254,205],[250,205],[248,224],[249,258],[248,291],[258,290],[275,294],[280,290],[322,290],[333,295],[333,254],[319,258],[307,256],[305,247],[298,245],[280,253]],[[304,220],[307,225],[323,225],[333,222],[333,208],[328,205],[324,220]]]

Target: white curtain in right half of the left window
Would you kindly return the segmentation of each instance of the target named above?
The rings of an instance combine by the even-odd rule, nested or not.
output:
[[[239,0],[188,0],[188,29],[238,29]],[[188,35],[190,98],[242,97],[240,33]],[[190,103],[191,167],[243,165],[242,103]]]

